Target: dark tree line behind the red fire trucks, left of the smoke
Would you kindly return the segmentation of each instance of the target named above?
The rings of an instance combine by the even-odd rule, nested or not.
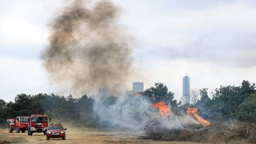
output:
[[[73,98],[56,94],[18,94],[14,102],[0,99],[0,123],[6,126],[7,118],[30,116],[31,114],[47,114],[52,119],[70,122],[74,126],[95,127],[97,120],[93,114],[93,98],[83,95]]]

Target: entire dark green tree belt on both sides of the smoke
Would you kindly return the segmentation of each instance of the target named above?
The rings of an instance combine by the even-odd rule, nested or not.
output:
[[[142,95],[151,102],[165,101],[172,107],[175,113],[184,110],[185,106],[179,106],[174,100],[174,93],[168,91],[162,83],[155,83],[146,89]],[[243,81],[242,86],[220,86],[210,99],[207,89],[194,92],[198,95],[194,102],[188,106],[198,107],[199,114],[207,120],[238,119],[242,122],[256,122],[256,89],[255,84]],[[102,98],[106,105],[114,105],[118,98],[111,96]],[[0,123],[7,126],[7,118],[16,116],[29,116],[30,114],[47,114],[53,120],[70,122],[78,127],[104,127],[98,122],[98,116],[94,114],[94,99],[83,95],[81,98],[73,98],[56,94],[18,94],[14,102],[5,102],[0,99]]]

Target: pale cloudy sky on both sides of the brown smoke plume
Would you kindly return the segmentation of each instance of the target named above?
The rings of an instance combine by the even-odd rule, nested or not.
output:
[[[191,89],[256,82],[256,1],[116,0],[119,24],[134,37],[132,82],[162,82],[182,96]],[[50,86],[40,60],[49,44],[47,23],[65,1],[0,0],[0,98],[61,94]],[[70,94],[72,92],[70,91]],[[64,94],[65,96],[67,94]]]

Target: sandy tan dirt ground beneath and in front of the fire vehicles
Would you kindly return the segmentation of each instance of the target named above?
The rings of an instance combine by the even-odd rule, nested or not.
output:
[[[34,133],[32,136],[26,133],[9,133],[7,129],[0,129],[0,135],[5,135],[10,138],[22,137],[28,142],[26,143],[159,143],[159,144],[194,144],[194,142],[166,142],[166,141],[154,141],[149,139],[139,139],[139,135],[142,132],[127,132],[127,131],[95,131],[95,130],[66,130],[66,140],[61,138],[52,138],[46,140],[46,135],[42,133]]]

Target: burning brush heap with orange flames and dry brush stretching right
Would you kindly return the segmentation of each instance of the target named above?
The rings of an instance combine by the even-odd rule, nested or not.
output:
[[[210,123],[199,116],[196,107],[186,107],[186,114],[175,115],[163,101],[153,103],[152,107],[158,109],[160,117],[146,126],[142,138],[182,142],[256,143],[254,124],[219,121]],[[175,125],[170,127],[166,122]]]

